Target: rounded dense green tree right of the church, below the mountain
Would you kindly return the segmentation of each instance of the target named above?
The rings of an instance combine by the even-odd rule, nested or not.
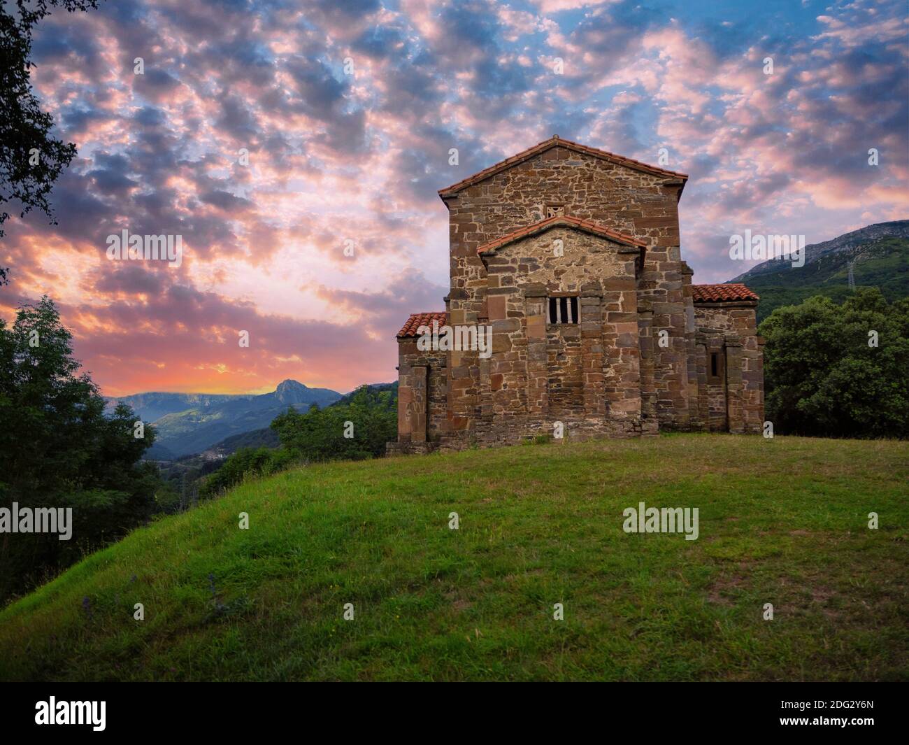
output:
[[[842,306],[811,297],[774,310],[760,334],[767,418],[776,431],[909,437],[909,299],[888,304],[868,287]]]

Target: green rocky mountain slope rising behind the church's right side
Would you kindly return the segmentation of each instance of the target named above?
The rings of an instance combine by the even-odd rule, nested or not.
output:
[[[729,282],[744,282],[760,297],[757,320],[775,308],[814,295],[842,303],[849,297],[849,265],[855,287],[878,287],[889,301],[909,297],[909,220],[869,225],[805,247],[804,267],[771,259]]]

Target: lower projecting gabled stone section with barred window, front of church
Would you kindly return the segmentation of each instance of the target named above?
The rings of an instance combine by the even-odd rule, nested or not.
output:
[[[554,227],[483,257],[493,357],[476,356],[475,441],[551,436],[555,422],[569,439],[640,433],[639,256],[637,247]],[[547,324],[547,297],[565,295],[578,297],[580,322]],[[453,367],[463,364],[464,352],[452,357]]]

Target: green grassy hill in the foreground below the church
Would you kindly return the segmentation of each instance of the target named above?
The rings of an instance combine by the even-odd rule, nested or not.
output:
[[[5,609],[0,679],[909,680],[907,456],[673,435],[253,480]],[[639,501],[700,538],[625,534]]]

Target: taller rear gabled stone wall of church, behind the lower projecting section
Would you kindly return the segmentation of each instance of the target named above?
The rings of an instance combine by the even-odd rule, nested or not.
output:
[[[487,299],[495,289],[508,287],[510,272],[494,265],[487,272],[476,249],[544,219],[546,206],[563,206],[566,215],[640,238],[647,248],[635,288],[647,305],[646,312],[652,314],[650,333],[655,337],[665,330],[669,335],[667,347],[654,345],[652,350],[654,416],[661,425],[684,428],[688,391],[685,339],[679,333],[684,327],[679,325],[684,319],[678,228],[681,186],[666,176],[557,146],[445,197],[450,222],[451,323],[483,321]],[[451,361],[449,381],[463,381],[449,389],[449,426],[454,437],[462,433],[460,437],[470,439],[469,430],[481,420],[480,371],[476,355],[462,354]]]

